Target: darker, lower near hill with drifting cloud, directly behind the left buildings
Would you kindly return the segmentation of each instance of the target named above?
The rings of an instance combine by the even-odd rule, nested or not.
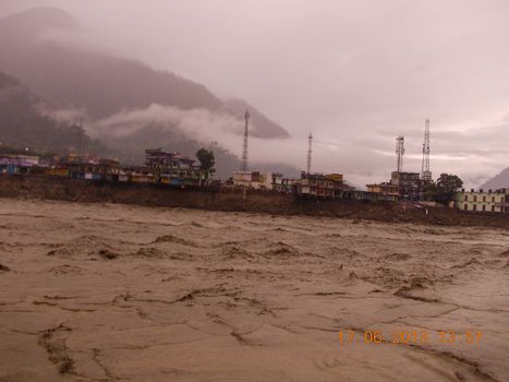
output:
[[[41,107],[44,106],[44,107]],[[165,147],[195,156],[204,144],[185,135],[177,127],[150,123],[133,134],[123,136],[105,135],[92,139],[77,126],[59,122],[40,109],[47,109],[44,100],[17,79],[0,72],[0,147],[14,146],[29,150],[65,154],[71,148],[104,157],[116,157],[124,165],[144,163],[144,150]],[[217,143],[205,145],[216,157],[217,176],[226,179],[240,168],[240,159]],[[296,175],[287,165],[253,165],[258,170],[280,170]]]

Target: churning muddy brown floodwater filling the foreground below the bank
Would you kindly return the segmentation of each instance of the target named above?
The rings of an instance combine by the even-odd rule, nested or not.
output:
[[[509,380],[502,228],[11,199],[0,219],[0,381]]]

